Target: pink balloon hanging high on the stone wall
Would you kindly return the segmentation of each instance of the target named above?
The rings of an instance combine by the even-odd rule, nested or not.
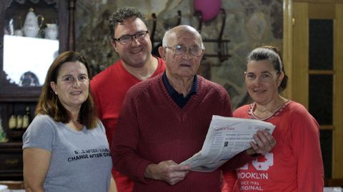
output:
[[[214,19],[222,6],[221,0],[194,0],[194,11],[202,11],[202,21]]]

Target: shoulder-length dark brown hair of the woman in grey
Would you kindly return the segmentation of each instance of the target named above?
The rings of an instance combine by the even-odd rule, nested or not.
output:
[[[46,79],[41,90],[41,96],[39,96],[39,101],[36,106],[36,114],[46,114],[51,118],[54,118],[55,121],[62,123],[68,123],[71,121],[71,113],[64,108],[59,101],[58,96],[54,94],[54,91],[51,89],[50,82],[57,82],[59,69],[63,64],[66,62],[76,61],[79,61],[81,64],[86,66],[87,74],[90,76],[89,66],[86,59],[84,59],[84,56],[81,56],[81,54],[75,51],[66,51],[59,54],[49,67],[48,73],[46,74]],[[86,126],[86,128],[96,127],[96,109],[94,107],[93,98],[91,98],[90,89],[86,101],[81,104],[78,121]]]

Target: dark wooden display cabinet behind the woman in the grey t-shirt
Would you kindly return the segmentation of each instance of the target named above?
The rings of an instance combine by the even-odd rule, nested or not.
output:
[[[22,180],[22,135],[25,127],[13,126],[13,122],[19,122],[24,115],[34,118],[34,110],[44,84],[45,74],[53,59],[61,52],[74,49],[74,19],[70,20],[69,14],[74,14],[75,0],[1,0],[0,1],[0,119],[1,127],[8,138],[7,142],[0,143],[0,180]],[[36,16],[44,17],[43,23],[39,19],[39,34],[36,37],[28,37],[20,30],[23,28],[29,9],[34,9]],[[73,16],[74,18],[74,16]],[[44,29],[49,24],[57,24],[58,38],[46,39]],[[33,59],[9,62],[9,47],[12,47],[11,56],[15,59],[24,56],[33,56]],[[5,41],[6,40],[6,41]],[[32,41],[36,43],[32,43]],[[30,43],[31,42],[31,43]],[[41,42],[53,42],[57,44],[56,53],[51,61],[46,61],[44,67],[33,64],[29,69],[29,63],[39,62],[41,58],[49,53],[46,46]],[[42,49],[43,48],[43,49]],[[13,51],[14,50],[14,51]],[[23,84],[22,79],[16,78],[18,72],[37,71],[41,73],[43,80],[39,84]],[[45,71],[44,71],[45,70]],[[12,71],[12,72],[9,72]],[[13,75],[11,74],[13,73]],[[24,73],[21,77],[24,76]],[[32,77],[32,76],[30,76]],[[19,124],[19,123],[18,123]]]

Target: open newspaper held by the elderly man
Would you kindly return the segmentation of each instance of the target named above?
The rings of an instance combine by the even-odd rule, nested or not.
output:
[[[230,158],[250,148],[257,130],[274,131],[272,123],[249,118],[212,116],[202,150],[182,162],[190,165],[191,171],[209,172],[222,166]]]

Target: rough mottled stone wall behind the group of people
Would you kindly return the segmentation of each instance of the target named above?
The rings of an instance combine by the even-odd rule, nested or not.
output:
[[[151,14],[156,14],[156,46],[164,31],[177,25],[178,21],[199,29],[194,1],[198,0],[76,1],[76,51],[86,56],[92,73],[96,74],[118,59],[109,43],[108,29],[108,18],[116,9],[121,6],[139,8],[148,19],[150,30],[153,24]],[[250,102],[244,86],[249,51],[262,45],[282,49],[282,6],[282,0],[222,0],[222,9],[226,13],[222,39],[229,42],[222,42],[221,50],[231,56],[224,61],[216,56],[205,56],[198,74],[224,86],[232,98],[233,108]],[[181,20],[178,11],[181,11]],[[202,22],[200,32],[205,41],[219,38],[222,13],[219,11],[214,19]],[[217,42],[205,42],[204,46],[205,54],[217,54]]]

